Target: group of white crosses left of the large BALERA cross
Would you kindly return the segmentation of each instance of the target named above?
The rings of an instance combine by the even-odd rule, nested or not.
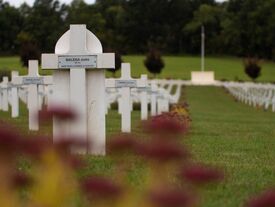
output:
[[[52,77],[40,76],[38,61],[30,60],[27,75],[19,76],[17,71],[12,71],[10,81],[8,77],[3,77],[0,84],[0,109],[9,111],[11,108],[11,117],[17,118],[21,100],[27,105],[29,129],[38,130],[37,114],[42,109],[42,105],[46,104],[45,102],[50,95],[46,94],[46,91],[49,90],[51,84]]]

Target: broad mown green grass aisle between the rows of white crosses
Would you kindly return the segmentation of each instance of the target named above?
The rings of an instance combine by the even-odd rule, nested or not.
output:
[[[243,206],[275,186],[275,113],[238,103],[221,88],[187,87],[193,119],[187,143],[197,160],[225,168],[224,183],[207,188],[204,207]]]

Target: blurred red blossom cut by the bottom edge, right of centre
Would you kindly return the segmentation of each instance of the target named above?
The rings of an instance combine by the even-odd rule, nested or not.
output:
[[[162,190],[152,192],[149,196],[157,207],[187,207],[191,206],[192,197],[179,190]]]

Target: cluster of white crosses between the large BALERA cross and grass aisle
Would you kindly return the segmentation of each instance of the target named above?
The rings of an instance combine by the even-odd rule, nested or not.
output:
[[[173,86],[176,85],[175,94],[171,95]],[[165,88],[167,87],[167,88]],[[169,111],[170,104],[179,101],[182,84],[179,81],[147,80],[147,75],[140,79],[131,77],[130,63],[122,63],[121,78],[106,79],[106,113],[111,103],[118,103],[118,112],[121,114],[121,131],[131,132],[131,111],[133,103],[140,103],[141,120]]]

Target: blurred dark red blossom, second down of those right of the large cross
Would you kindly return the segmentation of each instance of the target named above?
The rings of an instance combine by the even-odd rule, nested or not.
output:
[[[183,146],[174,142],[164,142],[161,140],[140,145],[138,153],[160,162],[181,160],[188,156]]]

